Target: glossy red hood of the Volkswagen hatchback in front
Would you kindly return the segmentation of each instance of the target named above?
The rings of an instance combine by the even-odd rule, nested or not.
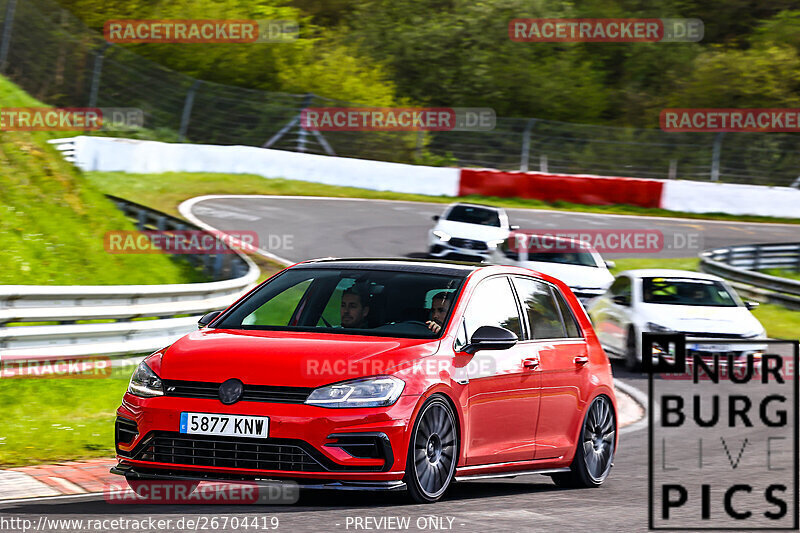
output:
[[[391,373],[438,346],[438,339],[204,329],[170,346],[156,372],[166,380],[238,378],[250,385],[318,387]]]

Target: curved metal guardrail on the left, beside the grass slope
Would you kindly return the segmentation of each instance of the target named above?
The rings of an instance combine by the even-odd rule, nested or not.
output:
[[[132,202],[112,200],[140,230],[195,227]],[[231,250],[182,257],[212,276],[230,279],[175,285],[0,286],[0,358],[149,353],[196,329],[205,313],[229,306],[260,275],[255,263]],[[8,326],[36,322],[57,324]]]

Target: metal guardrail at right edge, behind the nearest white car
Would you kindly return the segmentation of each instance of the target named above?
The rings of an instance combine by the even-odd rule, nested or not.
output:
[[[771,268],[800,271],[800,243],[729,246],[700,254],[701,270],[730,280],[748,298],[800,311],[800,281],[756,272]]]

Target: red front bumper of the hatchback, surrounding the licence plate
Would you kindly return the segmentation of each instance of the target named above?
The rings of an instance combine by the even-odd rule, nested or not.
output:
[[[327,409],[255,401],[226,406],[215,399],[126,394],[117,409],[120,464],[115,473],[318,484],[400,481],[418,400],[401,396],[384,408]],[[182,412],[266,416],[269,437],[179,433]]]

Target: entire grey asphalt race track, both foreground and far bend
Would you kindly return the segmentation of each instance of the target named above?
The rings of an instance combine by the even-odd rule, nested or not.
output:
[[[223,231],[257,231],[260,246],[291,261],[324,256],[421,256],[431,216],[443,205],[294,198],[228,198],[199,202],[192,214]],[[796,241],[797,226],[715,222],[682,219],[603,216],[578,213],[509,211],[512,224],[530,229],[660,229],[665,235],[694,232],[701,248],[728,244]],[[269,246],[270,236],[291,236],[291,247]],[[276,238],[273,237],[273,241]],[[274,244],[274,242],[273,242]],[[283,243],[282,243],[283,244]],[[676,257],[695,256],[698,250],[670,251]],[[641,255],[641,254],[640,254]],[[613,257],[613,255],[612,255]],[[623,257],[623,256],[621,256]],[[614,362],[614,375],[646,392],[647,381],[627,373]],[[686,438],[696,435],[687,430]],[[689,447],[673,450],[673,464],[695,461]],[[724,474],[704,473],[713,483]],[[727,479],[727,478],[725,478]],[[367,492],[304,492],[292,506],[111,505],[101,496],[91,499],[53,499],[0,506],[0,517],[30,519],[172,520],[206,517],[277,517],[277,531],[339,532],[376,530],[372,519],[410,518],[407,531],[456,532],[515,531],[646,531],[648,508],[647,431],[620,434],[615,466],[598,489],[559,489],[545,476],[462,482],[433,505],[409,505],[402,495]],[[715,510],[718,506],[715,506]],[[356,518],[370,518],[368,522]],[[420,522],[418,522],[418,519]],[[428,522],[430,520],[431,522]],[[418,527],[435,524],[437,527]],[[174,526],[173,526],[174,527]],[[203,529],[199,529],[203,530]],[[208,531],[254,531],[253,528],[212,528]],[[122,528],[120,531],[158,531]]]

